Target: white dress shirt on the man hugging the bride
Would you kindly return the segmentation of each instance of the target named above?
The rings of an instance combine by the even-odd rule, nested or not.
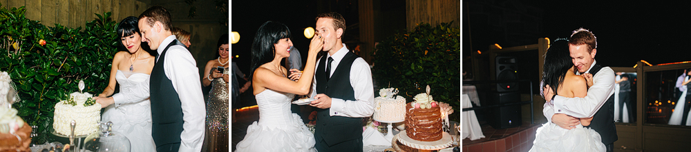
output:
[[[585,73],[590,73],[590,69],[596,64],[590,65],[590,68]],[[564,113],[576,118],[590,118],[597,113],[597,111],[605,105],[605,102],[614,94],[614,70],[609,67],[603,67],[600,72],[593,76],[593,86],[588,89],[588,94],[583,97],[566,98],[564,96],[554,95],[554,100],[551,104],[546,102],[543,106],[542,113],[545,114],[548,122],[551,122],[552,116],[555,113]]]

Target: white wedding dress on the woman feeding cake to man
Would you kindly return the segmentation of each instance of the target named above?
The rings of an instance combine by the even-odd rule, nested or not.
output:
[[[290,112],[294,96],[271,89],[256,94],[259,121],[247,127],[236,151],[316,151],[314,135],[300,116]]]

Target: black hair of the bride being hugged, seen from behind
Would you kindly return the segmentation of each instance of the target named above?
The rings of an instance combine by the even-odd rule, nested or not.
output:
[[[569,69],[574,67],[569,53],[569,41],[567,39],[556,39],[547,49],[545,65],[542,66],[542,83],[544,84],[541,87],[549,85],[554,91],[554,95],[557,95],[557,88],[564,81],[566,72],[569,72]]]

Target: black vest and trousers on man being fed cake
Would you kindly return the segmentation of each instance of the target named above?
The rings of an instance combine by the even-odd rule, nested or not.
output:
[[[348,52],[345,54],[334,74],[326,80],[326,55],[322,56],[316,68],[316,94],[326,94],[330,98],[343,100],[355,100],[354,90],[350,86],[350,67],[359,56]],[[333,68],[333,67],[332,67]],[[362,138],[362,118],[348,118],[343,116],[330,116],[330,109],[317,109],[316,127],[314,137],[319,143],[324,140],[332,146],[348,140]]]

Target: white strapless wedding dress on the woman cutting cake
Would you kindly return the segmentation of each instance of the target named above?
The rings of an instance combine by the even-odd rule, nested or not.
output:
[[[120,84],[120,92],[113,97],[119,97],[124,103],[108,105],[101,121],[113,122],[113,131],[130,140],[131,151],[156,151],[151,136],[149,74],[117,70],[115,80]]]

